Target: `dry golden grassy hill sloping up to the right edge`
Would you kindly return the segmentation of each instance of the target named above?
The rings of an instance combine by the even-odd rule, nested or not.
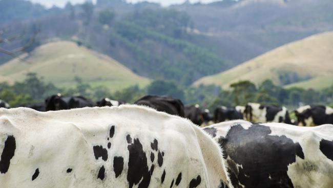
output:
[[[333,84],[333,32],[306,37],[264,53],[227,71],[204,77],[194,83],[216,84],[227,88],[231,83],[265,79],[286,87],[320,89]]]

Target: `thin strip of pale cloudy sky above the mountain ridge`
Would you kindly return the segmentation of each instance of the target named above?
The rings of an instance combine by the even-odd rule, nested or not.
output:
[[[58,7],[64,7],[65,4],[70,1],[73,4],[76,3],[82,3],[85,2],[86,0],[30,0],[35,3],[40,3],[42,5],[45,5],[47,7],[52,7],[53,5],[56,5]],[[96,0],[93,0],[95,2]],[[148,0],[149,2],[155,2],[155,3],[160,3],[163,6],[168,6],[170,4],[180,4],[183,3],[185,0]],[[190,0],[191,3],[210,3],[214,2],[217,0]],[[137,3],[137,2],[142,2],[142,0],[127,0],[127,2],[132,2],[132,3]]]

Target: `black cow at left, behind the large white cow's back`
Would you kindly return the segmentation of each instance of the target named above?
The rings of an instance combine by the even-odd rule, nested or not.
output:
[[[53,95],[45,100],[45,110],[63,110],[72,108],[92,107],[94,103],[90,100],[78,97],[63,97],[60,94]]]

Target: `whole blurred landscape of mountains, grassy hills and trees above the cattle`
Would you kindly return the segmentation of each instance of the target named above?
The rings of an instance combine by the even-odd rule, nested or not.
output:
[[[0,99],[333,106],[331,0],[154,2],[0,0]]]

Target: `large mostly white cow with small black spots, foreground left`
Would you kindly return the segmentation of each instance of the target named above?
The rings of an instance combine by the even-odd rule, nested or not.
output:
[[[209,146],[209,147],[207,147]],[[120,105],[0,109],[1,187],[233,187],[219,145],[184,118]]]

